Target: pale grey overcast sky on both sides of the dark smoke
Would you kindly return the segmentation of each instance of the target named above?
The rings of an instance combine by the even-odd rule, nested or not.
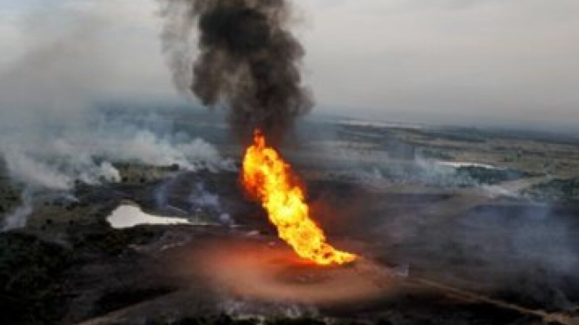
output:
[[[160,2],[0,0],[1,109],[177,97],[160,50]],[[577,0],[292,3],[317,112],[579,125]]]

